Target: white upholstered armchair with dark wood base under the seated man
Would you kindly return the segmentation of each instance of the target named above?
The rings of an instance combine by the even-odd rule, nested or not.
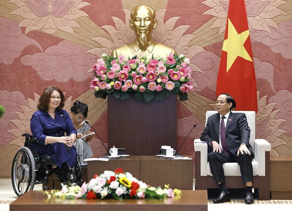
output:
[[[270,151],[271,145],[264,139],[255,139],[256,113],[254,111],[233,111],[234,113],[245,113],[248,126],[251,128],[249,143],[253,147],[255,155],[253,165],[253,188],[258,189],[259,200],[270,200]],[[206,123],[208,117],[217,111],[206,112]],[[194,140],[196,159],[196,189],[206,190],[208,188],[219,188],[210,170],[207,159],[208,150],[206,143],[198,143],[200,139]],[[241,179],[238,163],[223,164],[225,183],[227,188],[245,188]]]

